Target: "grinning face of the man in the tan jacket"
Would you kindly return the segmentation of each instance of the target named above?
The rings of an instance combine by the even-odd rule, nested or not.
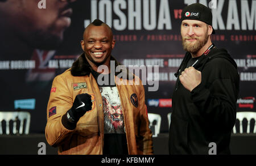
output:
[[[114,45],[112,31],[107,25],[95,26],[91,24],[86,27],[81,47],[91,66],[109,66],[110,54]]]

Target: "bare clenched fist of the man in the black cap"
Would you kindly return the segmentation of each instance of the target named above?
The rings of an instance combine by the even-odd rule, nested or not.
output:
[[[190,92],[201,83],[201,72],[194,67],[188,67],[179,76],[181,84]]]

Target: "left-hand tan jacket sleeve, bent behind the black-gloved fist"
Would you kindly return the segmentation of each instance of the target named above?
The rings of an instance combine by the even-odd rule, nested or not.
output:
[[[61,75],[53,80],[52,88],[55,91],[52,91],[49,96],[45,133],[49,145],[59,146],[73,132],[73,130],[66,129],[61,122],[62,117],[72,107],[73,99],[68,84]]]

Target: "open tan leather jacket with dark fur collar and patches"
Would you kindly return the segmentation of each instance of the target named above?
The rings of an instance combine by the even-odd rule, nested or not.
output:
[[[119,65],[113,57],[111,60],[115,61],[115,66]],[[53,80],[45,131],[47,142],[51,146],[58,146],[59,154],[102,154],[104,147],[102,97],[90,71],[89,63],[82,54],[71,69]],[[119,85],[120,82],[127,80],[119,79],[117,74],[115,73],[115,84],[120,94],[129,154],[152,154],[152,133],[148,128],[144,87],[141,80],[139,85],[135,85],[134,76],[131,80],[133,85]],[[76,95],[81,93],[89,93],[94,98],[92,110],[80,118],[74,130],[68,130],[63,126],[61,118],[72,107]],[[134,99],[131,99],[134,93],[138,96],[138,105],[134,104]]]

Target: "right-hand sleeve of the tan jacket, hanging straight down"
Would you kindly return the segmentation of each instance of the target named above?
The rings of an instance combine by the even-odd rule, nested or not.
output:
[[[142,82],[141,82],[142,83]],[[145,104],[145,95],[144,95],[144,87],[141,84],[139,86],[139,116],[141,118],[141,125],[139,129],[139,134],[142,137],[142,151],[144,155],[152,155],[153,154],[153,142],[152,142],[152,132],[149,129],[149,121],[147,115],[147,106]]]

